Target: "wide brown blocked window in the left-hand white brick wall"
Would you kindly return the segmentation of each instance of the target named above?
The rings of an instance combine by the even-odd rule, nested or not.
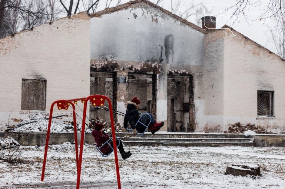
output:
[[[22,79],[22,110],[45,110],[47,80]]]

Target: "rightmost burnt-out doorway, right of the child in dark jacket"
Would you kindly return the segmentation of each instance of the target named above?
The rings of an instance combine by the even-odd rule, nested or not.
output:
[[[168,75],[167,131],[195,130],[193,76]]]

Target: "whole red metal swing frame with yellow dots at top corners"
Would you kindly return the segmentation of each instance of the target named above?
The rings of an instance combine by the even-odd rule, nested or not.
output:
[[[76,112],[75,112],[75,105],[74,104],[77,104],[77,101],[80,101],[80,100],[82,103],[84,103],[84,108],[83,108],[81,141],[80,141],[80,152],[79,152],[79,158],[78,158],[78,143],[77,143],[77,133],[76,133]],[[112,126],[112,136],[115,138],[115,127],[114,127],[112,103],[111,103],[111,100],[107,96],[91,95],[91,96],[88,96],[87,98],[78,98],[78,99],[70,99],[70,100],[57,100],[57,101],[53,102],[51,104],[51,110],[50,110],[50,114],[49,114],[48,133],[47,133],[47,140],[46,140],[46,144],[45,144],[45,157],[44,157],[43,169],[42,169],[42,173],[41,173],[41,181],[44,181],[44,176],[45,176],[45,163],[46,163],[47,154],[48,154],[48,140],[49,140],[49,134],[50,134],[50,130],[51,130],[51,118],[52,118],[53,107],[56,104],[59,110],[67,110],[68,107],[71,105],[72,109],[73,109],[73,125],[74,125],[76,168],[77,168],[76,189],[79,189],[79,187],[80,187],[80,175],[81,175],[81,164],[82,164],[82,153],[83,153],[83,142],[84,142],[84,133],[85,133],[86,109],[87,109],[88,100],[91,102],[91,104],[93,106],[103,106],[105,100],[108,101],[109,110],[110,110],[110,118],[111,118],[111,126]],[[117,146],[116,140],[113,140],[113,144],[114,144],[114,146]],[[117,148],[114,148],[114,154],[115,154],[115,163],[116,163],[116,171],[117,171],[118,189],[121,189]]]

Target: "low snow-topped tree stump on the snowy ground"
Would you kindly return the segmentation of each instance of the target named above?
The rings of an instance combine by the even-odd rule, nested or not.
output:
[[[246,176],[246,175],[260,175],[260,166],[257,164],[240,164],[227,166],[226,175]]]

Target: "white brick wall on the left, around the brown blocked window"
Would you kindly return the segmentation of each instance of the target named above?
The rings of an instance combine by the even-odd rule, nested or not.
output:
[[[55,100],[88,96],[90,18],[79,13],[0,39],[0,66],[2,130],[9,115],[10,125],[29,115],[20,114],[22,78],[47,80],[47,112]]]

